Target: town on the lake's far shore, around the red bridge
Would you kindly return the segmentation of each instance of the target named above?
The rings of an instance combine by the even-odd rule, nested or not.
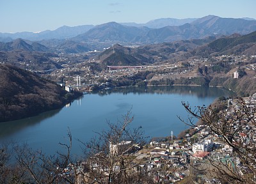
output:
[[[88,53],[89,54],[89,53]],[[246,71],[247,73],[254,73],[256,69],[256,64],[250,61],[254,61],[255,56],[234,56],[234,55],[222,55],[222,56],[212,56],[209,58],[201,58],[201,59],[188,59],[187,61],[179,61],[173,64],[164,63],[160,65],[148,65],[148,66],[107,66],[105,70],[95,70],[90,65],[97,65],[99,61],[94,59],[90,59],[89,61],[84,61],[79,64],[68,65],[68,63],[72,63],[72,59],[77,57],[77,54],[74,56],[70,55],[70,58],[67,57],[61,59],[58,58],[57,62],[63,66],[60,70],[51,70],[51,71],[36,71],[37,73],[41,73],[43,77],[47,79],[51,79],[52,81],[56,81],[61,85],[65,86],[91,86],[92,88],[83,88],[86,91],[90,91],[92,89],[104,89],[118,86],[134,86],[135,85],[157,85],[161,84],[160,81],[168,81],[173,80],[178,81],[179,79],[191,79],[202,77],[204,71],[198,71],[198,68],[208,68],[204,70],[208,70],[210,72],[210,68],[213,71],[212,75],[214,77],[224,78],[227,75],[223,76],[221,72],[220,63],[225,63],[225,66],[230,66],[230,68],[239,68],[240,71]],[[56,58],[52,58],[53,60]],[[215,64],[214,64],[215,63]],[[201,70],[201,69],[200,69]],[[236,70],[232,70],[233,73],[230,73],[228,77],[235,77],[234,72]],[[252,72],[251,72],[252,71]],[[201,74],[201,73],[202,74]],[[141,77],[140,73],[147,73],[147,76]],[[242,73],[242,75],[243,75]],[[210,73],[211,75],[211,73]],[[253,74],[254,75],[254,74]],[[79,77],[79,82],[78,78]],[[241,76],[243,77],[243,76]],[[254,76],[255,77],[255,76]],[[141,79],[142,82],[129,82],[136,81],[136,79]],[[124,82],[128,81],[128,82]],[[123,84],[124,83],[124,84]],[[186,84],[184,84],[186,85]],[[205,84],[198,83],[199,86],[204,86]],[[210,85],[210,84],[209,84]],[[214,86],[213,84],[212,86]],[[94,88],[93,88],[94,86]],[[211,85],[210,85],[211,86]],[[218,86],[218,85],[217,85]]]

